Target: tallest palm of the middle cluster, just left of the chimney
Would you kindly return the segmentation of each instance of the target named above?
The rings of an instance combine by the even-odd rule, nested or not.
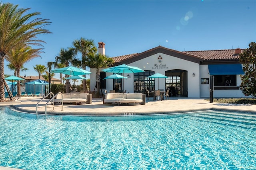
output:
[[[81,37],[80,39],[76,39],[73,41],[72,49],[76,54],[80,52],[82,54],[82,68],[86,70],[86,61],[89,53],[96,53],[98,51],[97,47],[94,45],[94,41],[92,39],[85,39]],[[84,75],[85,77],[85,75]],[[83,89],[87,90],[86,81],[83,80]]]

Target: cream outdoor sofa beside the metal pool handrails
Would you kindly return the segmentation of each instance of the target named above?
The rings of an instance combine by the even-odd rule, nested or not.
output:
[[[86,103],[92,104],[92,94],[89,93],[64,93],[63,96],[63,103]],[[58,94],[54,99],[54,102],[61,103],[61,94]]]

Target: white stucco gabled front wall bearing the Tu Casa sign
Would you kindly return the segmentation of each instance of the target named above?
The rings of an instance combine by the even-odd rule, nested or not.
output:
[[[158,57],[161,56],[162,59],[158,59]],[[159,62],[159,60],[161,62]],[[134,63],[128,64],[130,66],[137,66],[143,70],[152,70],[155,73],[161,73],[165,75],[165,71],[167,70],[174,70],[174,69],[180,69],[180,70],[186,70],[187,71],[187,81],[188,81],[188,97],[191,98],[198,98],[200,96],[200,71],[199,71],[199,64],[193,63],[190,61],[186,61],[183,59],[179,59],[177,57],[165,55],[162,53],[158,53],[149,57],[146,57],[142,60],[136,61]],[[101,68],[102,70],[104,68]],[[91,83],[91,90],[95,87],[96,80],[95,80],[95,68],[91,68],[90,70],[92,74],[90,75],[90,83]],[[193,77],[192,74],[195,74]],[[111,75],[112,73],[106,73],[106,76]],[[133,81],[134,76],[133,73],[126,73],[124,76],[130,75],[130,78],[124,79],[124,90],[127,90],[126,92],[133,93],[134,87],[133,87]],[[155,88],[156,89],[165,89],[165,79],[159,78],[159,88],[158,88],[158,80],[155,82]],[[113,80],[109,79],[106,80],[106,90],[112,90],[113,89]],[[123,84],[122,84],[123,89]],[[102,89],[104,90],[104,89]]]

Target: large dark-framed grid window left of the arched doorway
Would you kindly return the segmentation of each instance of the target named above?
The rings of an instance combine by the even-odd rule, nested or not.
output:
[[[146,90],[155,90],[154,78],[148,78],[154,74],[154,71],[145,70],[145,72],[134,73],[134,93],[144,93]]]

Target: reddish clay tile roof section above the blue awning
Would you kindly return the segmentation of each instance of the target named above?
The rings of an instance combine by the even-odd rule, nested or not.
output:
[[[243,53],[241,49],[241,53]],[[208,50],[208,51],[184,51],[190,55],[202,57],[205,60],[223,60],[223,59],[239,59],[239,54],[235,54],[235,49],[232,50]]]

